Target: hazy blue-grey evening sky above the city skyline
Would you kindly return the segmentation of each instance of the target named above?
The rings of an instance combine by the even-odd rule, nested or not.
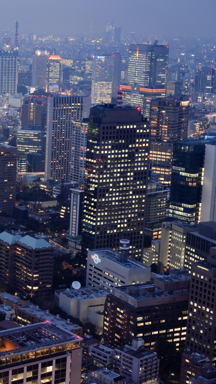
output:
[[[208,35],[215,33],[216,0],[1,0],[0,29],[20,35],[73,35],[105,29],[112,19],[125,34]]]

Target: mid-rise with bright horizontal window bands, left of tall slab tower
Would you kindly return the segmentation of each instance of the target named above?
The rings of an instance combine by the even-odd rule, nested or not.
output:
[[[41,150],[41,125],[29,124],[17,130],[17,149],[26,153],[40,152]]]

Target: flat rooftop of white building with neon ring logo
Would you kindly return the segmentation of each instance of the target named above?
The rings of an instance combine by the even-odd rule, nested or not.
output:
[[[111,262],[121,265],[123,268],[129,269],[129,270],[140,269],[140,268],[143,268],[143,269],[150,268],[149,266],[139,263],[136,260],[133,260],[131,258],[128,258],[128,260],[125,263],[121,262],[120,253],[114,251],[111,248],[91,249],[89,251],[95,252],[100,257],[104,257],[110,260]]]

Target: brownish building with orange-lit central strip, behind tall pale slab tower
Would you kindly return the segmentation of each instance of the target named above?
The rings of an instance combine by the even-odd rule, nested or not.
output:
[[[26,97],[22,104],[21,126],[27,127],[29,124],[42,124],[42,108],[44,100],[41,98]]]

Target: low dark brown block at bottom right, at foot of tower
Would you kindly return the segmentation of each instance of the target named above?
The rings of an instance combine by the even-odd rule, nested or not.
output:
[[[181,359],[180,384],[187,384],[194,377],[201,375],[203,368],[209,369],[210,360],[204,358],[201,353],[191,352],[185,349]]]

